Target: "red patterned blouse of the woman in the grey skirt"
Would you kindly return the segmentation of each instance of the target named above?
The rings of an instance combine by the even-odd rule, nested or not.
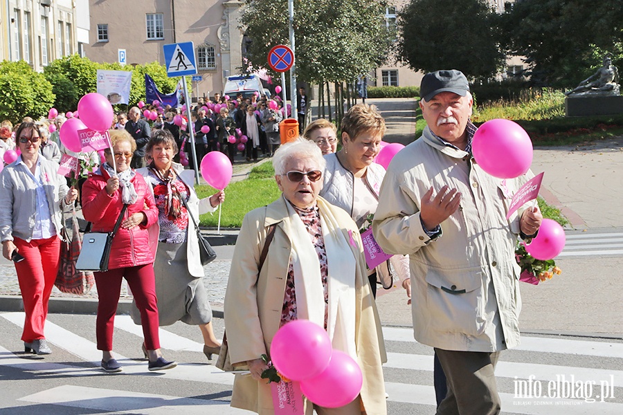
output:
[[[188,230],[188,211],[183,204],[179,206],[180,214],[177,219],[165,214],[167,199],[169,197],[167,185],[162,181],[152,170],[150,169],[149,175],[146,178],[147,183],[152,185],[154,189],[154,198],[156,199],[156,206],[158,207],[158,221],[160,224],[160,234],[158,240],[166,243],[183,243],[186,242],[186,232]],[[175,176],[171,185],[176,187],[180,196],[184,198],[186,202],[190,198],[188,187],[181,181],[181,178]],[[172,201],[172,203],[180,203],[179,201]],[[176,207],[177,208],[177,207]]]

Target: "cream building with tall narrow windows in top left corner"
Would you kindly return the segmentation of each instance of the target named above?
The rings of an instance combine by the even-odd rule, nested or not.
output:
[[[89,1],[6,0],[0,2],[0,57],[24,60],[43,71],[54,59],[84,54],[89,43]]]

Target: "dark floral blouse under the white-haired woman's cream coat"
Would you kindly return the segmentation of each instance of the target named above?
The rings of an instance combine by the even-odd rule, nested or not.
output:
[[[328,268],[327,268],[327,252],[325,251],[325,239],[323,238],[323,228],[320,223],[320,213],[318,212],[318,206],[309,208],[309,210],[294,209],[300,216],[300,219],[305,225],[305,229],[309,233],[311,243],[316,248],[316,254],[318,254],[318,261],[320,261],[320,277],[323,280],[323,292],[325,294],[325,330],[327,329],[327,309],[329,306],[329,283],[328,283]],[[288,268],[288,278],[286,281],[286,290],[283,295],[283,307],[281,309],[281,324],[283,326],[287,322],[296,320],[296,291],[294,290],[294,267],[290,262]]]

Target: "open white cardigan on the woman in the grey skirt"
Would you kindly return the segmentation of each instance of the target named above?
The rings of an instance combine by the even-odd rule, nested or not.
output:
[[[204,199],[199,199],[197,197],[197,193],[195,192],[195,170],[185,170],[181,164],[173,163],[172,169],[177,173],[181,181],[188,186],[190,190],[190,198],[188,199],[188,208],[190,210],[190,214],[195,218],[197,224],[199,224],[199,214],[204,214],[208,212],[214,212],[216,208],[213,208],[210,204],[210,198],[206,197]],[[147,177],[149,174],[149,167],[142,167],[141,169],[136,169],[138,174],[141,174],[143,177]],[[149,182],[147,182],[149,184]],[[154,193],[154,189],[152,186],[148,186],[152,194]],[[160,234],[160,223],[156,221],[154,225],[149,228],[150,232],[150,248],[152,248],[152,252],[154,253],[154,257],[156,256],[156,250],[158,249],[158,239]],[[186,254],[188,255],[188,272],[193,277],[203,277],[204,276],[204,266],[201,264],[201,256],[199,254],[199,240],[197,239],[197,232],[195,232],[195,224],[192,223],[192,219],[188,218],[188,233],[186,234]]]

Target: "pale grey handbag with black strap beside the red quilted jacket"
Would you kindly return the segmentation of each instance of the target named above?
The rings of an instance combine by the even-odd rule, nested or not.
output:
[[[82,249],[78,261],[75,263],[76,270],[98,271],[100,273],[105,273],[108,270],[110,247],[126,210],[127,204],[124,204],[112,232],[87,232],[84,234]]]

